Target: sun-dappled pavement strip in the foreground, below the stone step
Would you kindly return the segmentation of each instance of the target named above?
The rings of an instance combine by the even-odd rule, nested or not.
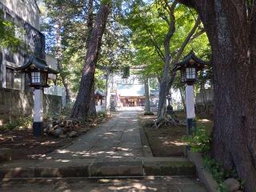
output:
[[[2,192],[206,192],[194,178],[45,179],[0,182]]]

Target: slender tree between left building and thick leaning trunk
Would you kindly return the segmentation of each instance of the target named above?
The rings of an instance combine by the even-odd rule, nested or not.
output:
[[[42,22],[42,30],[46,34],[46,39],[50,41],[50,43],[46,42],[46,47],[48,47],[46,50],[47,52],[56,55],[58,71],[62,82],[61,84],[66,90],[66,102],[70,102],[71,83],[67,75],[69,71],[66,70],[65,43],[67,41],[67,36],[69,36],[71,32],[74,32],[74,28],[70,30],[69,26],[73,24],[72,22],[76,23],[76,18],[82,18],[83,13],[86,12],[83,11],[86,3],[82,0],[43,0],[43,2],[44,4],[42,5],[44,6],[42,6],[42,8],[45,14],[45,21]],[[52,34],[52,31],[54,31],[54,35]]]

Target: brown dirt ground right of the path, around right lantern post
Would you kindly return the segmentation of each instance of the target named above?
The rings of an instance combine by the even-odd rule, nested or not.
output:
[[[176,114],[179,119],[186,121],[184,113]],[[150,143],[150,148],[155,157],[183,157],[186,142],[182,139],[186,136],[186,126],[172,126],[155,129],[152,127],[155,115],[140,114],[140,123],[145,130],[146,137]],[[206,126],[209,133],[213,122],[207,118],[198,118],[197,126]]]

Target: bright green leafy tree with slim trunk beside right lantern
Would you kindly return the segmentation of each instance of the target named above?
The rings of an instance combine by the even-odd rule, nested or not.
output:
[[[200,19],[194,18],[193,14],[196,13],[181,6],[178,1],[162,0],[135,3],[127,19],[133,30],[138,60],[146,64],[147,74],[157,74],[160,79],[156,126],[162,126],[168,120],[166,94],[176,76],[171,73],[173,65],[187,52],[186,48],[191,47],[188,46],[192,44],[190,42],[203,34]]]

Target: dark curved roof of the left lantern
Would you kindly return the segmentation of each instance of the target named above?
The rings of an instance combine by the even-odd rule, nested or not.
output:
[[[53,70],[49,66],[47,66],[47,63],[45,60],[41,58],[37,58],[34,55],[30,56],[29,61],[26,62],[25,65],[17,67],[15,70],[26,71],[31,68],[38,68],[39,70],[45,70],[45,71],[48,71],[49,74],[58,74],[57,70]]]

